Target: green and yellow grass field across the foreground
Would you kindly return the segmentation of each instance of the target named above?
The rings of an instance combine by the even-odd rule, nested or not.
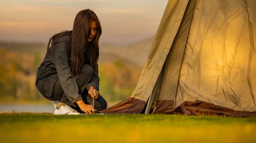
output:
[[[256,142],[256,118],[0,113],[0,142]]]

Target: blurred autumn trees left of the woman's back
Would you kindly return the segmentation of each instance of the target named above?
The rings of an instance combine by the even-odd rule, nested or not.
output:
[[[31,101],[42,99],[35,87],[38,54],[17,54],[0,49],[0,101]]]

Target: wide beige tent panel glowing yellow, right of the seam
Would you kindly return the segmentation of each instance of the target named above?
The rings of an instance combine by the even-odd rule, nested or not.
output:
[[[255,0],[197,0],[174,108],[200,100],[256,111],[255,6]]]

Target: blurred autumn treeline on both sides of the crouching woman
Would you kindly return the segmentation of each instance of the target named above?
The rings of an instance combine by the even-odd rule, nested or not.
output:
[[[0,42],[0,103],[48,102],[35,87],[36,72],[45,53],[43,44]],[[100,93],[110,104],[128,99],[141,70],[141,66],[122,59],[99,63]]]

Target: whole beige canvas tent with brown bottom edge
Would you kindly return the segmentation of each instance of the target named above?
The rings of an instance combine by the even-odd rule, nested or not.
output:
[[[103,111],[256,116],[256,0],[169,0],[132,96]]]

